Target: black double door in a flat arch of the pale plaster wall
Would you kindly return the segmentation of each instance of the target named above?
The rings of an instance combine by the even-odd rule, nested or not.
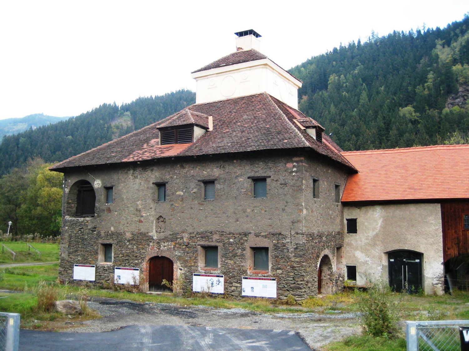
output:
[[[387,254],[389,285],[395,292],[416,293],[422,289],[422,254],[399,250]]]

